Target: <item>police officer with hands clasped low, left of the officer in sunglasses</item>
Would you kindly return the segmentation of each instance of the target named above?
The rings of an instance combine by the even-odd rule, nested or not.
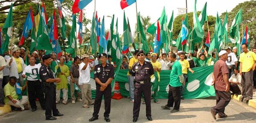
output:
[[[111,81],[114,78],[114,67],[112,64],[108,64],[107,54],[102,53],[99,55],[101,64],[98,64],[94,68],[94,80],[96,82],[96,95],[94,101],[93,117],[89,121],[97,120],[99,117],[99,109],[102,102],[102,95],[105,100],[105,112],[104,117],[106,122],[110,122],[109,113],[111,106]]]

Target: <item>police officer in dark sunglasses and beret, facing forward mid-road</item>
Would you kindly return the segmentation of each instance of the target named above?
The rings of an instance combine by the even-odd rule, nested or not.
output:
[[[141,94],[143,93],[146,103],[146,117],[149,121],[151,118],[151,85],[150,76],[154,75],[154,68],[151,62],[145,61],[145,53],[140,50],[137,54],[139,61],[135,62],[130,70],[130,74],[134,78],[134,108],[133,108],[133,122],[137,122],[140,113]]]

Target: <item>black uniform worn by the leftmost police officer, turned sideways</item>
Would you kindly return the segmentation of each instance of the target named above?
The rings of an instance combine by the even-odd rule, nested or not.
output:
[[[43,90],[45,93],[45,116],[46,118],[50,118],[53,115],[58,115],[59,111],[56,107],[56,87],[52,83],[46,82],[49,78],[54,78],[52,70],[50,67],[47,67],[45,64],[42,64],[39,70],[40,79],[44,84]]]

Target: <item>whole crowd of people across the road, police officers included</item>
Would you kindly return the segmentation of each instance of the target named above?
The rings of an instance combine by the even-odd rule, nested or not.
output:
[[[227,117],[224,108],[232,94],[242,95],[241,99],[249,101],[253,98],[253,88],[256,88],[256,48],[248,50],[247,44],[241,45],[243,53],[237,48],[225,46],[219,52],[214,49],[210,54],[203,46],[198,51],[186,53],[184,51],[169,53],[144,53],[135,50],[133,56],[123,56],[120,69],[127,69],[130,102],[134,103],[133,122],[137,122],[142,104],[146,105],[146,117],[151,118],[151,99],[157,99],[158,84],[161,80],[161,70],[171,70],[169,82],[168,103],[162,109],[179,112],[180,100],[183,98],[187,73],[195,72],[191,68],[214,65],[213,82],[216,94],[216,106],[210,109],[212,116]],[[29,53],[25,48],[15,48],[12,54],[3,53],[0,56],[0,106],[9,104],[17,110],[37,110],[35,101],[38,99],[41,108],[46,110],[46,120],[55,120],[53,116],[63,116],[56,103],[68,103],[68,80],[70,79],[70,94],[72,103],[81,101],[84,108],[94,105],[93,117],[89,121],[97,120],[102,96],[105,99],[104,117],[110,122],[111,86],[116,65],[111,56],[106,53],[90,56],[84,54],[72,58],[71,54],[56,56],[55,53],[44,55],[44,50]],[[10,57],[10,56],[12,57]],[[210,56],[209,56],[210,55]],[[59,58],[59,59],[58,59]],[[29,65],[26,65],[26,61]],[[69,67],[70,66],[70,67]],[[94,71],[94,72],[93,72]],[[96,97],[93,102],[91,94],[90,73],[93,72],[96,82]],[[76,91],[77,86],[81,92]],[[152,87],[152,89],[151,89]],[[27,89],[27,95],[22,95]],[[230,91],[232,93],[230,93]],[[151,95],[151,92],[154,95]],[[76,96],[75,96],[76,93]],[[53,115],[53,116],[52,116]]]

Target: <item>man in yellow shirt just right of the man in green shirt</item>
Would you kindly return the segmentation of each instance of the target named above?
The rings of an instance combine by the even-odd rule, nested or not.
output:
[[[188,78],[188,69],[191,73],[194,73],[194,71],[189,67],[189,61],[185,59],[185,54],[182,52],[180,53],[180,60],[179,60],[181,67],[182,67],[182,74],[184,77],[184,81],[186,82],[186,79]],[[180,90],[180,99],[184,100],[183,98],[183,92],[185,90],[185,83],[182,84],[181,90]]]

